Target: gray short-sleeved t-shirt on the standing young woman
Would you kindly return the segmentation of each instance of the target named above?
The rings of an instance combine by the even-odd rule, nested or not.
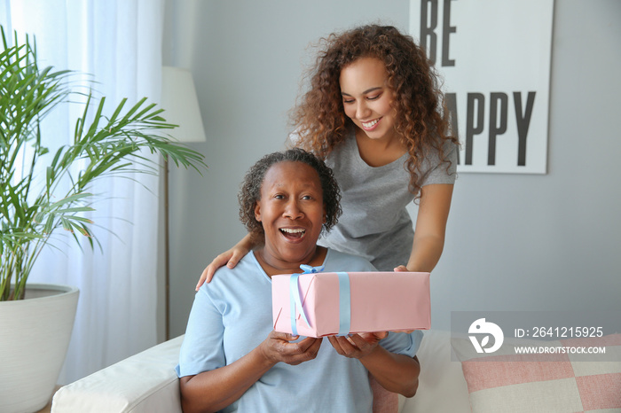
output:
[[[422,185],[454,183],[457,150],[447,144],[451,168],[439,161],[437,153],[423,160]],[[342,216],[318,244],[343,253],[366,258],[376,269],[392,271],[407,264],[412,253],[414,230],[405,207],[413,202],[408,190],[410,174],[405,167],[409,154],[383,167],[370,167],[358,152],[353,132],[327,156],[341,187]]]

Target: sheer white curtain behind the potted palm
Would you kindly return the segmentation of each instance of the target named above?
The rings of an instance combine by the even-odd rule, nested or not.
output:
[[[158,102],[164,0],[3,0],[5,33],[35,35],[41,66],[92,74],[108,113],[122,97]],[[75,109],[48,119],[43,139],[67,144]],[[29,282],[76,285],[75,327],[60,384],[156,344],[157,175],[99,182],[93,207],[98,247],[57,242],[37,261]]]

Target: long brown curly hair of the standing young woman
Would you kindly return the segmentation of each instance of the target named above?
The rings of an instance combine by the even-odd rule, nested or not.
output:
[[[438,153],[448,171],[451,160],[446,158],[444,143],[459,142],[450,135],[439,76],[411,36],[395,27],[368,25],[322,38],[318,47],[315,66],[307,74],[310,89],[291,113],[295,134],[300,136],[297,146],[325,159],[345,139],[354,124],[343,109],[341,71],[358,58],[378,58],[386,67],[388,87],[395,96],[395,130],[410,155],[405,162],[409,190],[414,195],[421,190],[418,168],[429,153]]]

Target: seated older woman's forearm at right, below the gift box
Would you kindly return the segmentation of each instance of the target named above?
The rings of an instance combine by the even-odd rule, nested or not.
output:
[[[359,360],[386,390],[405,397],[416,394],[421,365],[415,356],[396,355],[378,346]]]

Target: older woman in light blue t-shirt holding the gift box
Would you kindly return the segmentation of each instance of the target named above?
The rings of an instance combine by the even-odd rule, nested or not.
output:
[[[309,152],[271,153],[248,171],[240,218],[263,246],[196,294],[177,366],[185,412],[371,411],[369,372],[392,392],[416,392],[417,333],[323,340],[272,330],[271,276],[302,272],[301,264],[374,270],[317,245],[341,213],[339,199],[332,171]]]

